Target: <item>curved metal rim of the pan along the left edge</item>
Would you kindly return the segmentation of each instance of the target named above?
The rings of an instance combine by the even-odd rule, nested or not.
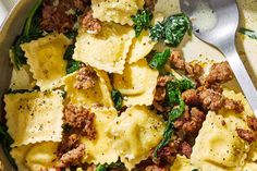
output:
[[[25,19],[29,9],[34,5],[35,0],[20,0],[20,2],[11,10],[10,15],[0,28],[0,115],[3,115],[3,94],[7,93],[12,66],[9,61],[9,49],[15,37],[22,32]],[[0,160],[3,161],[5,171],[13,171],[7,158],[0,148]]]

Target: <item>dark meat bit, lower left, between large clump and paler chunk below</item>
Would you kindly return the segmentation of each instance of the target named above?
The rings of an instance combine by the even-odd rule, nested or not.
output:
[[[63,154],[65,154],[66,151],[77,147],[78,145],[78,139],[79,136],[77,134],[72,134],[72,135],[64,135],[62,137],[62,142],[60,143],[60,145],[58,146],[58,152],[57,156],[61,157]]]

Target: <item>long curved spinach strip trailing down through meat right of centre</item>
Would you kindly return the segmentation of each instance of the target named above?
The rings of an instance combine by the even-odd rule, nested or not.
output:
[[[166,87],[168,101],[173,109],[168,113],[169,118],[166,124],[163,138],[155,149],[155,158],[158,157],[158,151],[170,143],[174,132],[173,122],[181,118],[185,111],[185,102],[181,97],[182,91],[189,88],[195,88],[195,83],[188,78],[183,78],[181,81],[175,80],[173,82],[168,82]]]

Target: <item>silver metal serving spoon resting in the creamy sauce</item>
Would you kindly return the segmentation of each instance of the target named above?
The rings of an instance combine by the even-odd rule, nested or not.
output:
[[[193,20],[193,28],[195,35],[201,40],[216,46],[230,63],[234,75],[246,96],[255,115],[257,117],[257,90],[245,70],[243,62],[235,48],[235,33],[237,30],[240,14],[235,0],[180,0],[181,9]],[[206,20],[204,15],[197,15],[199,5],[207,5],[211,10],[209,20],[215,19],[215,23],[203,27],[203,23],[196,22]],[[206,10],[208,12],[208,9]]]

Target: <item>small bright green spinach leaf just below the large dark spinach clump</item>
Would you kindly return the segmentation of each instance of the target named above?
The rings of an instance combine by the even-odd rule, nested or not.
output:
[[[163,52],[157,52],[150,60],[149,65],[152,69],[161,71],[164,68],[170,56],[170,49],[166,49]]]

